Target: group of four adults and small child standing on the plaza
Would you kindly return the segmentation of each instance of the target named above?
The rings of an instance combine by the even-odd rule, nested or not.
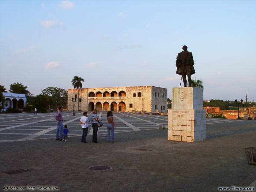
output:
[[[64,125],[65,129],[63,130],[63,117],[61,114],[61,112],[63,111],[63,108],[59,107],[58,109],[59,109],[59,111],[54,117],[56,120],[56,125],[57,125],[56,140],[67,142],[69,131],[67,129],[67,125]],[[99,118],[99,115],[97,114],[97,112],[98,112],[98,110],[94,109],[93,114],[91,116],[91,127],[93,129],[93,143],[97,143],[98,129],[102,125],[102,121]],[[108,111],[107,119],[108,119],[108,125],[107,125],[108,143],[110,142],[110,132],[111,132],[111,142],[113,143],[114,142],[114,129],[116,129],[116,125],[114,124],[114,121],[113,121],[112,111]],[[83,130],[81,142],[83,142],[83,143],[87,143],[86,136],[88,133],[89,123],[90,123],[90,121],[88,118],[88,113],[83,112],[83,117],[80,118],[80,124],[82,125],[82,130]]]

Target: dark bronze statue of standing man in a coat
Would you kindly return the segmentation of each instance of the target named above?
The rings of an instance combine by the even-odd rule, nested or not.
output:
[[[176,60],[176,67],[177,71],[176,74],[182,76],[184,87],[187,87],[187,79],[186,75],[188,76],[188,84],[191,87],[191,75],[195,74],[195,69],[193,67],[194,60],[193,55],[191,52],[188,52],[188,47],[184,45],[182,47],[183,51],[178,53],[177,60]]]

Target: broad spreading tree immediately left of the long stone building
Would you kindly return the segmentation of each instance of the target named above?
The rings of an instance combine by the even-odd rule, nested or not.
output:
[[[42,94],[52,97],[55,108],[57,106],[67,106],[67,101],[68,101],[67,90],[61,89],[59,87],[47,87],[41,92]]]

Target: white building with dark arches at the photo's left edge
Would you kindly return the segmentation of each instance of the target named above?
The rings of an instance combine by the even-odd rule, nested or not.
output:
[[[0,105],[4,106],[4,109],[23,109],[26,106],[27,98],[25,94],[3,93],[3,95],[4,101],[0,102]]]

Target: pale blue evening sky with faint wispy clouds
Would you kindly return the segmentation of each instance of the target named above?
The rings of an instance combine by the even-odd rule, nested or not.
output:
[[[175,61],[193,53],[203,99],[256,101],[255,0],[1,0],[0,83],[179,87]],[[183,82],[181,83],[183,86]]]

